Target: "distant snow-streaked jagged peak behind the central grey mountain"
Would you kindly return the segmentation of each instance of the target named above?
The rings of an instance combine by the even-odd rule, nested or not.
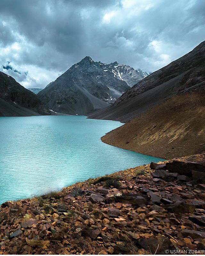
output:
[[[135,70],[128,65],[119,64],[118,62],[102,63],[102,68],[112,73],[115,78],[125,81],[130,87],[150,74],[149,72],[141,69]]]

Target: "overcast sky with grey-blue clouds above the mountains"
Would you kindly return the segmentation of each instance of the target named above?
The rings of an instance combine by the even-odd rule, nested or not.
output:
[[[204,0],[0,0],[0,71],[45,87],[86,55],[155,71],[205,40]]]

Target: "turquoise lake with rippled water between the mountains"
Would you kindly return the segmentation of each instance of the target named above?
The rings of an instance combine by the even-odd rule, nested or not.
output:
[[[0,203],[161,160],[101,141],[121,125],[85,116],[0,117]]]

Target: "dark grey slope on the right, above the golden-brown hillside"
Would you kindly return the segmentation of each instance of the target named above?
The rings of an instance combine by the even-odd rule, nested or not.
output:
[[[131,87],[105,110],[90,118],[127,122],[169,97],[205,81],[205,41],[166,67],[153,72]]]

